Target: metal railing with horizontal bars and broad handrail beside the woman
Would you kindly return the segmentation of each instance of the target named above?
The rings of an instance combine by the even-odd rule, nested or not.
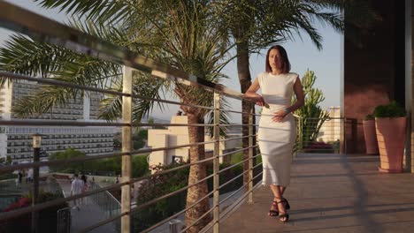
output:
[[[21,17],[24,15],[25,17]],[[223,109],[220,107],[220,99],[224,96],[242,100],[242,94],[239,92],[235,92],[226,86],[221,86],[205,79],[200,79],[192,74],[188,74],[184,71],[177,70],[171,66],[161,64],[157,61],[149,59],[148,57],[139,55],[132,51],[129,51],[125,48],[121,48],[117,45],[111,44],[107,41],[103,41],[97,39],[96,37],[90,36],[88,34],[81,33],[73,28],[68,26],[64,26],[59,24],[53,20],[46,19],[40,15],[37,15],[31,11],[23,10],[13,4],[0,2],[0,26],[4,26],[10,30],[13,30],[20,34],[27,34],[32,38],[36,38],[38,41],[49,42],[58,46],[61,46],[65,49],[72,49],[73,51],[85,54],[88,56],[94,56],[100,59],[103,59],[108,62],[112,62],[114,64],[122,65],[123,70],[123,91],[116,92],[116,91],[109,91],[102,88],[96,88],[92,86],[80,86],[74,85],[71,83],[66,83],[63,81],[52,80],[52,79],[40,79],[35,77],[29,77],[26,75],[21,75],[17,73],[7,72],[7,71],[0,71],[0,77],[10,79],[13,81],[17,80],[27,80],[27,81],[35,81],[39,84],[47,84],[52,86],[65,86],[70,88],[76,88],[83,91],[88,92],[96,92],[100,94],[112,94],[117,96],[122,96],[122,121],[119,123],[103,123],[103,122],[80,122],[80,121],[53,121],[53,120],[26,120],[26,119],[18,119],[18,120],[0,120],[0,124],[2,125],[25,125],[25,126],[79,126],[79,127],[87,127],[87,126],[102,126],[102,127],[122,127],[122,152],[120,153],[109,153],[109,154],[100,154],[96,156],[89,156],[89,157],[80,157],[80,158],[71,158],[71,159],[61,159],[55,161],[47,161],[47,162],[30,162],[24,164],[15,164],[10,166],[4,166],[0,168],[0,172],[11,172],[16,169],[29,169],[34,168],[38,169],[42,166],[53,166],[53,165],[63,165],[63,164],[71,164],[75,162],[88,162],[88,161],[96,161],[105,158],[114,158],[120,157],[122,160],[122,169],[121,169],[121,180],[119,184],[111,184],[106,187],[96,187],[95,189],[90,189],[88,192],[76,194],[66,198],[59,198],[59,199],[51,199],[44,201],[42,203],[34,203],[30,207],[22,207],[17,210],[1,213],[0,219],[7,220],[18,218],[24,214],[35,214],[43,209],[47,209],[49,207],[53,207],[55,205],[68,202],[73,199],[81,199],[84,197],[100,197],[102,193],[111,191],[111,190],[121,190],[121,201],[120,201],[120,212],[118,212],[117,208],[115,211],[111,211],[111,214],[107,215],[107,219],[97,222],[96,224],[90,225],[85,229],[80,230],[80,232],[87,232],[92,229],[99,228],[104,224],[109,222],[118,222],[120,220],[120,231],[121,232],[132,232],[131,229],[131,216],[134,213],[142,211],[145,207],[149,207],[150,205],[156,204],[160,200],[165,200],[168,198],[173,197],[174,195],[180,192],[188,192],[188,189],[194,188],[196,185],[205,184],[210,179],[212,179],[212,190],[211,192],[206,193],[202,198],[196,200],[196,202],[192,203],[190,206],[186,207],[185,209],[181,210],[177,214],[173,214],[172,216],[166,218],[158,222],[157,224],[150,226],[148,229],[143,230],[143,232],[149,232],[151,229],[156,229],[158,226],[161,226],[165,222],[172,220],[173,218],[177,217],[179,214],[183,214],[190,210],[196,205],[200,204],[204,199],[210,199],[212,196],[212,205],[209,210],[203,213],[197,220],[194,222],[187,222],[185,224],[185,229],[181,229],[180,232],[184,232],[187,229],[192,228],[198,222],[203,220],[204,217],[212,215],[212,221],[208,228],[213,228],[214,232],[219,232],[219,221],[223,217],[224,214],[229,213],[229,209],[226,209],[226,212],[221,212],[220,207],[223,207],[223,203],[235,197],[237,193],[240,194],[240,197],[233,203],[234,205],[245,201],[246,199],[251,202],[253,200],[253,190],[254,190],[254,180],[260,177],[261,174],[255,174],[254,177],[253,169],[260,166],[253,164],[253,154],[254,149],[257,146],[254,146],[254,138],[255,133],[253,131],[255,124],[253,124],[253,117],[257,116],[253,114],[253,107],[250,107],[250,112],[241,112],[237,110],[229,110],[233,113],[238,114],[245,114],[249,115],[249,124],[220,124],[219,123],[219,115]],[[161,79],[170,79],[176,83],[180,83],[183,85],[194,86],[199,88],[205,88],[211,90],[211,93],[214,94],[214,105],[212,107],[206,106],[199,106],[195,104],[186,104],[179,101],[166,101],[166,100],[158,100],[158,99],[149,99],[145,96],[140,96],[132,93],[132,86],[133,86],[133,71],[134,69],[139,71],[145,71],[151,74],[154,77],[161,78]],[[214,113],[214,124],[143,124],[143,123],[133,123],[132,121],[132,109],[133,109],[133,100],[134,99],[142,99],[142,100],[150,100],[150,101],[159,101],[165,102],[170,104],[176,105],[187,105],[193,108],[202,108],[202,109],[209,109]],[[226,153],[226,154],[219,154],[219,143],[220,141],[230,140],[230,139],[220,139],[219,136],[219,128],[220,127],[230,127],[230,126],[248,126],[249,127],[249,147],[242,148],[242,150],[249,151],[249,158],[243,159],[242,162],[236,163],[243,164],[248,162],[249,169],[245,169],[242,171],[241,174],[233,177],[230,180],[227,180],[223,184],[220,184],[220,174],[223,172],[228,171],[231,168],[221,169],[219,165],[219,158],[230,156],[242,150],[236,150],[234,152]],[[147,149],[140,149],[134,150],[132,148],[132,129],[134,127],[141,127],[141,126],[178,126],[178,127],[206,127],[212,126],[214,128],[214,137],[212,141],[206,142],[198,142],[193,144],[186,144],[186,145],[178,145],[174,147],[157,147],[157,148],[147,148]],[[246,137],[243,137],[246,138]],[[211,158],[203,159],[203,160],[196,160],[196,162],[191,162],[187,164],[183,164],[179,167],[175,167],[173,169],[165,169],[156,174],[147,175],[144,177],[135,177],[131,176],[131,158],[134,154],[144,154],[150,153],[155,151],[161,150],[171,150],[173,148],[183,148],[183,147],[194,147],[194,146],[202,146],[206,144],[214,144],[213,156]],[[257,157],[256,155],[255,157]],[[188,184],[176,191],[165,193],[155,199],[151,199],[145,203],[142,203],[137,206],[133,206],[132,202],[133,199],[131,198],[131,186],[140,181],[149,180],[151,178],[157,178],[162,175],[171,174],[174,171],[179,169],[186,169],[192,166],[197,166],[200,164],[206,164],[206,162],[212,162],[212,174],[206,177],[200,178],[193,184]],[[234,166],[237,166],[234,165]],[[231,184],[237,179],[248,174],[249,181],[245,184],[242,184],[238,190],[234,191],[232,194],[226,197],[226,199],[222,199],[220,201],[220,189],[223,189],[226,185]],[[98,201],[100,198],[97,199]],[[221,206],[220,206],[221,205]],[[234,205],[232,207],[234,207]],[[112,209],[112,210],[113,210]],[[117,225],[117,224],[115,224]],[[205,229],[207,230],[207,229]]]

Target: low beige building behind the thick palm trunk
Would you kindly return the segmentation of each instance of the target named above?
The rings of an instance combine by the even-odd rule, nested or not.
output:
[[[171,124],[188,124],[187,116],[173,116]],[[242,129],[231,129],[227,132],[228,138],[236,138],[242,136]],[[240,131],[239,131],[240,130]],[[209,135],[204,136],[205,141],[212,141]],[[180,145],[187,145],[188,141],[188,127],[186,126],[169,126],[166,130],[150,129],[148,131],[148,146],[152,148],[159,147],[175,147]],[[226,140],[220,142],[219,154],[226,154],[233,151],[242,145],[242,139]],[[212,156],[214,143],[205,145],[206,158]],[[187,162],[189,155],[189,147],[180,147],[170,150],[155,151],[149,154],[149,166],[158,164],[167,165],[173,162]],[[229,161],[231,155],[225,156],[224,161]],[[220,162],[223,162],[223,157],[220,157]]]

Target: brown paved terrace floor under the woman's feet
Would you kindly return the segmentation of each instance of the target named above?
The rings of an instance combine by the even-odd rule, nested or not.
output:
[[[267,216],[264,186],[220,223],[220,232],[414,232],[414,174],[380,174],[380,158],[299,154],[285,197],[290,220]]]

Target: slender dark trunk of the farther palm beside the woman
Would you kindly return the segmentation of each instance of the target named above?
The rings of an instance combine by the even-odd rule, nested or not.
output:
[[[237,43],[237,71],[239,74],[239,82],[241,86],[242,93],[246,93],[251,85],[251,76],[249,71],[249,42],[248,41],[241,41]],[[242,101],[242,112],[249,112],[250,111],[250,102],[249,101]],[[253,113],[255,109],[253,109]],[[242,114],[242,136],[246,137],[249,136],[249,115]],[[256,124],[256,119],[253,117],[253,124]],[[253,127],[253,132],[256,132],[256,127]],[[256,145],[256,137],[253,138],[253,146]],[[249,147],[249,138],[242,139],[242,146],[243,148]],[[253,150],[256,154],[256,150]],[[243,160],[249,158],[249,150],[243,150]],[[256,163],[256,162],[255,162]],[[249,169],[249,162],[243,162],[243,170]],[[247,184],[249,182],[249,173],[244,173],[243,175],[243,184]],[[248,188],[248,185],[246,185]]]

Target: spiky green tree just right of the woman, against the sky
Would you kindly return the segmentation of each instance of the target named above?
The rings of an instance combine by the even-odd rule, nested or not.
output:
[[[301,109],[298,109],[295,114],[301,116],[300,124],[302,129],[300,133],[303,139],[303,144],[306,147],[309,143],[315,141],[318,137],[320,127],[326,120],[329,119],[329,114],[326,110],[320,108],[319,103],[325,100],[322,91],[313,85],[317,76],[314,71],[306,71],[302,78],[303,92],[305,94],[305,103]],[[293,97],[295,101],[295,96]]]

